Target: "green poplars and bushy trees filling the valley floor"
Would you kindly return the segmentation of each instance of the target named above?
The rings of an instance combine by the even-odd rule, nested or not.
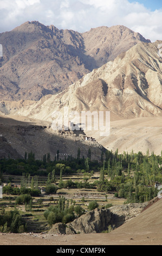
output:
[[[59,150],[57,150],[59,152]],[[59,160],[51,159],[50,154],[41,160],[35,159],[35,154],[25,153],[23,159],[0,160],[0,184],[7,182],[3,193],[16,195],[16,204],[25,204],[26,209],[32,208],[32,197],[40,196],[39,178],[46,177],[45,193],[56,193],[59,188],[91,188],[99,192],[114,193],[115,197],[125,198],[125,203],[143,203],[157,196],[155,182],[162,183],[162,154],[122,153],[118,149],[113,153],[106,150],[101,153],[100,161],[92,160],[92,151],[87,157],[81,157],[80,149],[77,157],[68,156]],[[162,152],[161,152],[162,153]],[[58,154],[57,154],[58,155]],[[93,179],[95,172],[100,173],[99,179]],[[5,175],[8,174],[8,178]],[[82,181],[64,180],[64,176],[82,174]],[[12,187],[11,175],[21,175],[21,188]],[[7,179],[7,180],[6,180]],[[93,201],[88,209],[98,208],[98,202]],[[109,204],[106,206],[109,207]],[[60,196],[59,202],[44,211],[44,217],[50,225],[56,222],[64,224],[73,221],[85,211],[80,205],[69,204]],[[20,232],[25,225],[17,210],[2,211],[0,216],[0,231]]]

